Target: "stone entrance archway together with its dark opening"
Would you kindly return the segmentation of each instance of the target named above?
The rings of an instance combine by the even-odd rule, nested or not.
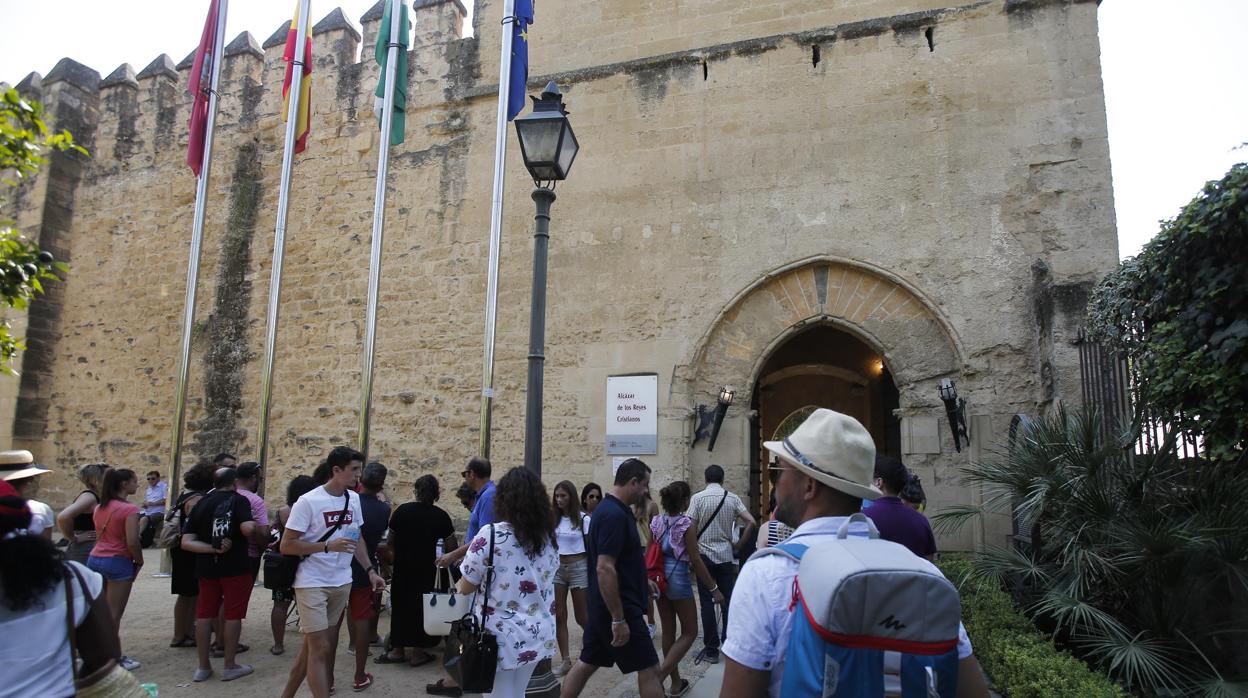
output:
[[[760,451],[771,423],[810,405],[836,408],[826,401],[841,400],[842,411],[867,415],[881,451],[897,452],[899,432],[906,442],[907,415],[938,408],[936,383],[956,376],[962,357],[961,341],[936,303],[895,273],[829,256],[769,271],[721,307],[673,376],[671,405],[683,415],[713,406],[721,386],[738,390],[714,453],[689,451],[685,472],[694,477],[711,462],[723,465],[729,488],[750,491],[759,511],[766,503]],[[882,365],[874,376],[871,360]],[[826,383],[829,396],[794,398],[782,415],[780,402],[769,408],[768,386],[785,395],[785,386],[802,381]],[[844,402],[857,391],[862,406]]]

